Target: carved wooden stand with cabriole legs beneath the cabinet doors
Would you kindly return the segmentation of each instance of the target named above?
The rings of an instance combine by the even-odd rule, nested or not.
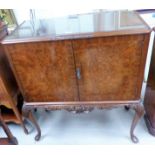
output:
[[[37,134],[35,136],[35,140],[39,141],[41,138],[41,129],[33,115],[33,111],[36,108],[44,108],[45,110],[67,110],[69,112],[73,112],[73,113],[88,113],[91,112],[93,109],[97,108],[97,109],[109,109],[109,108],[119,108],[119,107],[123,107],[123,106],[128,106],[129,108],[133,109],[135,111],[135,115],[131,124],[131,128],[130,128],[130,137],[132,142],[134,143],[138,143],[139,140],[138,138],[134,135],[134,129],[138,123],[138,121],[142,118],[142,116],[144,115],[144,108],[143,105],[139,102],[133,102],[133,103],[125,103],[125,104],[119,104],[116,105],[114,104],[113,106],[110,104],[105,104],[105,105],[51,105],[51,104],[36,104],[37,102],[31,102],[31,103],[27,103],[25,102],[22,108],[22,112],[23,112],[23,116],[28,119],[36,128],[37,130]]]

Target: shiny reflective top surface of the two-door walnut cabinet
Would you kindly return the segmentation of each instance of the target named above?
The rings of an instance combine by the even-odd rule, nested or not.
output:
[[[134,11],[97,10],[86,14],[25,21],[2,43],[92,38],[150,31],[149,26]]]

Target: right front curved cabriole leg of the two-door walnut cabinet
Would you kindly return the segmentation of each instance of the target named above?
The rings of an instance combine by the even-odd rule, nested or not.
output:
[[[140,118],[143,116],[144,114],[144,108],[141,104],[136,104],[136,105],[132,105],[130,106],[131,108],[133,108],[135,110],[135,116],[133,118],[132,124],[131,124],[131,129],[130,129],[130,136],[131,136],[131,140],[134,143],[138,143],[139,140],[138,138],[134,135],[134,129],[138,123],[138,121],[140,120]]]

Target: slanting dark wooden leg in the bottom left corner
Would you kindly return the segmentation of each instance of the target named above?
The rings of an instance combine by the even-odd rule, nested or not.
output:
[[[18,144],[18,141],[17,139],[12,135],[11,131],[9,130],[8,126],[5,124],[3,118],[2,118],[2,115],[0,113],[0,123],[6,133],[6,135],[8,136],[8,139],[9,141],[11,142],[11,144],[15,144],[17,145]]]

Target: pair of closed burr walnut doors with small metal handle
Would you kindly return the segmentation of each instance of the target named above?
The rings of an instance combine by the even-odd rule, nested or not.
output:
[[[140,98],[144,35],[5,45],[27,102]],[[142,65],[143,64],[143,65]]]

